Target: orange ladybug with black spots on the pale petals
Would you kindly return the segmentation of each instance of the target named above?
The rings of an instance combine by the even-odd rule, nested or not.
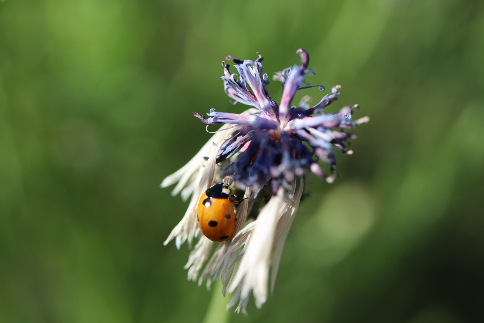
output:
[[[229,194],[228,185],[217,183],[209,187],[198,202],[198,227],[212,241],[227,241],[234,234],[237,219]]]

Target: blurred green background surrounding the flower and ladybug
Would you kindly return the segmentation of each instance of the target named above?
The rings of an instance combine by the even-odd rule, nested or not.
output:
[[[246,108],[226,55],[300,47],[371,122],[308,178],[274,294],[225,314],[159,184],[210,138],[192,111]],[[0,322],[484,322],[483,60],[482,0],[1,1]]]

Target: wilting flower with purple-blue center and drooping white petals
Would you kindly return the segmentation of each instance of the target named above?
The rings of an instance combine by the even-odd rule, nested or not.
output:
[[[209,118],[194,112],[207,127],[222,126],[185,166],[161,184],[166,187],[178,182],[172,195],[181,193],[183,200],[192,196],[185,215],[164,244],[175,239],[180,249],[185,241],[191,246],[193,239],[200,235],[185,265],[188,279],[198,279],[199,285],[206,279],[210,289],[212,281],[221,277],[223,294],[234,293],[227,309],[238,302],[236,311],[242,309],[244,314],[251,291],[257,308],[265,303],[271,266],[271,292],[274,289],[282,249],[301,201],[304,175],[310,170],[332,183],[336,177],[333,148],[352,154],[347,148],[348,139],[356,137],[345,130],[369,121],[368,117],[352,120],[353,109],[359,108],[358,105],[344,107],[335,114],[323,111],[337,100],[339,85],[333,86],[331,93],[312,108],[307,96],[298,107],[292,107],[296,92],[311,87],[301,86],[305,75],[314,75],[308,68],[308,53],[304,49],[297,53],[301,56],[301,65],[273,76],[283,84],[279,105],[267,92],[269,82],[267,74],[263,74],[260,53],[255,62],[227,56],[227,60],[235,63],[238,75],[231,74],[230,65],[222,62],[225,92],[234,100],[232,104],[240,102],[253,108],[241,114],[217,112],[212,108],[207,114]],[[323,91],[324,87],[319,89]],[[329,164],[330,171],[325,172],[319,162]],[[236,211],[238,223],[246,223],[247,214],[264,186],[271,188],[272,198],[261,208],[256,220],[245,227],[237,226],[229,240],[218,243],[209,260],[213,242],[199,234],[197,203],[214,180],[220,182],[224,177],[245,192]]]

